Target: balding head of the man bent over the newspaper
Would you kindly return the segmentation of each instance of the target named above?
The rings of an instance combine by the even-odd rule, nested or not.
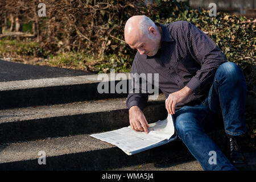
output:
[[[160,48],[161,34],[156,24],[145,15],[129,18],[125,24],[125,42],[139,53],[155,55]]]

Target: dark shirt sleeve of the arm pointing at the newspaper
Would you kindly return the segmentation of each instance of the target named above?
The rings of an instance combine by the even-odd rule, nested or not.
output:
[[[138,66],[137,66],[138,57],[137,54],[135,55],[133,65],[131,66],[130,71],[130,78],[131,80],[134,80],[134,74],[138,72]],[[133,81],[135,83],[135,81]],[[139,88],[141,88],[141,84],[139,85]],[[148,93],[141,93],[141,89],[139,89],[139,93],[135,92],[135,87],[131,86],[129,88],[129,93],[126,100],[126,106],[128,109],[130,109],[131,106],[138,106],[140,109],[144,109],[144,107],[147,106],[147,100],[148,100]]]

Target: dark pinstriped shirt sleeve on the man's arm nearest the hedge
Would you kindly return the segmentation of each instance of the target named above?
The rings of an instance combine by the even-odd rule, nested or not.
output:
[[[188,22],[183,30],[187,42],[188,51],[201,65],[201,69],[187,83],[188,88],[194,93],[199,93],[206,85],[212,84],[217,68],[225,63],[226,57],[217,44],[203,31]]]

